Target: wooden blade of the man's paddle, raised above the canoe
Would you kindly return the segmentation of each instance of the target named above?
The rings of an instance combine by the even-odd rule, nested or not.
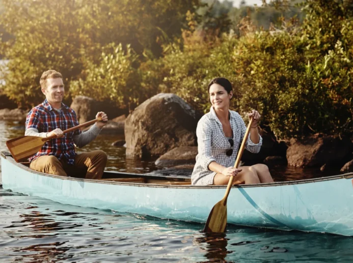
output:
[[[16,162],[25,161],[38,153],[45,141],[37,136],[21,136],[6,142],[12,157]]]

